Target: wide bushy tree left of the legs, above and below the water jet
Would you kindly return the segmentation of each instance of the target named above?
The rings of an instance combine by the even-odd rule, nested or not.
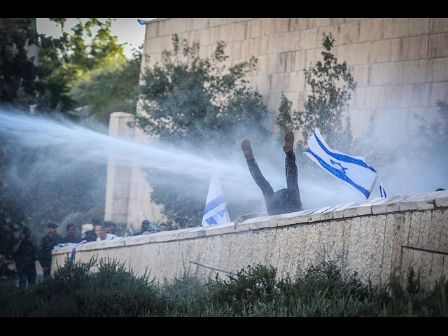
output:
[[[134,116],[134,125],[162,143],[196,151],[214,148],[223,155],[239,146],[244,137],[255,144],[266,141],[267,109],[245,78],[255,68],[256,59],[227,69],[225,43],[217,43],[214,54],[202,58],[198,43],[189,45],[185,39],[179,41],[177,35],[172,41],[173,49],[165,50],[161,61],[147,66],[141,76],[139,97],[144,113]],[[174,180],[193,184],[194,176],[167,176],[162,170],[148,176],[151,197],[156,204],[164,205],[168,218],[184,216],[200,223],[208,186],[201,190],[201,197],[195,198],[188,187],[164,183]]]

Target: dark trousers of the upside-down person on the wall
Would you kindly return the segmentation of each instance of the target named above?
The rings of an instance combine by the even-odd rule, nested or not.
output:
[[[257,183],[263,197],[265,198],[266,210],[269,216],[288,214],[302,210],[297,165],[295,165],[295,154],[290,151],[285,158],[286,188],[274,192],[272,186],[262,175],[255,159],[247,161],[249,172],[253,181]]]

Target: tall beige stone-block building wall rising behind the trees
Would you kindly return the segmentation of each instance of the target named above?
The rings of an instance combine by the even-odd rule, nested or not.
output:
[[[309,87],[302,70],[322,60],[323,32],[335,38],[332,52],[358,83],[349,109],[353,137],[372,127],[371,117],[379,140],[393,144],[416,130],[414,114],[435,120],[437,101],[448,99],[446,18],[159,19],[146,23],[144,59],[158,62],[172,49],[172,34],[198,41],[204,57],[225,41],[228,65],[257,57],[247,77],[274,120],[282,92],[293,110],[303,108]]]

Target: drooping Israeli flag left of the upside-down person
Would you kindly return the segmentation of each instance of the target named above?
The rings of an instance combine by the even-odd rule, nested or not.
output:
[[[223,190],[221,190],[221,183],[219,183],[218,176],[214,174],[211,176],[204,216],[202,217],[202,226],[229,222],[229,214],[225,205]]]

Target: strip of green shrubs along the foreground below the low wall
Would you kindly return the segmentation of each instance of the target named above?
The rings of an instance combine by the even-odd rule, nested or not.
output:
[[[421,293],[418,276],[410,274],[407,286],[391,279],[373,288],[331,263],[310,267],[295,280],[277,279],[274,267],[256,265],[206,283],[188,274],[156,283],[116,261],[67,261],[34,286],[3,281],[0,316],[448,316],[448,281]]]

